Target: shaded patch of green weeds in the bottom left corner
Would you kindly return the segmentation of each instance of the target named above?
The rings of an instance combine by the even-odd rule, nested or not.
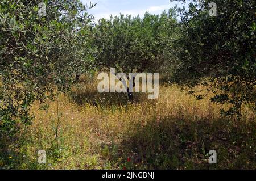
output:
[[[1,169],[50,169],[52,164],[58,164],[62,159],[66,159],[69,156],[68,151],[61,151],[55,142],[45,149],[47,153],[46,164],[40,164],[38,162],[38,151],[32,149],[32,145],[35,144],[30,138],[32,135],[29,131],[26,134],[20,134],[15,139],[10,140],[9,137],[0,141],[0,170]],[[63,146],[64,147],[64,146]],[[43,146],[42,146],[43,148]]]

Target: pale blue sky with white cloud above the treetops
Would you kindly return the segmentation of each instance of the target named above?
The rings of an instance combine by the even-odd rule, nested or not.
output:
[[[143,17],[146,11],[151,14],[161,14],[164,10],[176,4],[182,7],[180,1],[170,2],[170,0],[82,0],[89,5],[90,2],[97,3],[93,9],[88,10],[96,18],[109,18],[110,15],[131,14],[132,16],[140,15]]]

